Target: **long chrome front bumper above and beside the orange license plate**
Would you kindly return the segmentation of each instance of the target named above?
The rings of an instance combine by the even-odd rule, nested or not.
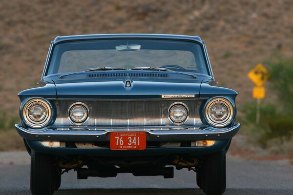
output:
[[[58,140],[58,141],[109,141],[109,133],[112,131],[102,130],[53,130],[46,129],[44,131],[27,130],[20,125],[15,125],[17,132],[21,137],[27,140]],[[223,140],[234,137],[240,129],[240,124],[236,124],[230,128],[215,129],[212,127],[203,127],[196,130],[145,130],[146,141],[191,141],[191,140]],[[131,130],[126,132],[131,132]],[[123,132],[123,131],[118,131]],[[139,132],[139,131],[135,131]]]

